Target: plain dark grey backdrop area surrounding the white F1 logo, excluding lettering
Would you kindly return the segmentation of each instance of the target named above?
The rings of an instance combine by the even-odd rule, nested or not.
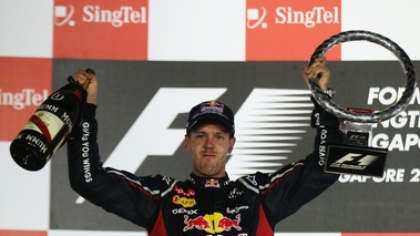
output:
[[[418,69],[420,63],[414,62]],[[305,62],[143,62],[60,60],[53,62],[53,90],[78,69],[93,68],[100,80],[96,117],[99,144],[105,161],[160,88],[226,88],[221,100],[237,111],[255,88],[308,90],[300,76]],[[334,101],[342,106],[382,110],[367,105],[369,88],[404,86],[404,75],[396,61],[328,62],[332,72]],[[194,99],[194,98],[192,98]],[[197,101],[198,103],[201,101]],[[176,105],[176,104],[174,104]],[[418,102],[408,110],[419,110]],[[184,129],[186,114],[180,114],[172,129]],[[416,129],[375,129],[373,133],[406,136]],[[240,127],[237,127],[238,130]],[[285,160],[304,158],[311,150],[314,131],[307,129]],[[147,135],[147,134],[139,134]],[[156,141],[158,144],[158,141]],[[164,144],[158,144],[164,145]],[[142,144],[139,143],[139,148]],[[135,154],[133,154],[135,156]],[[298,213],[280,222],[277,232],[418,232],[419,183],[410,183],[411,170],[419,166],[419,146],[388,154],[387,168],[404,168],[403,183],[337,183]],[[164,162],[163,162],[164,160]],[[164,174],[184,179],[191,172],[189,158],[180,145],[171,157],[148,156],[137,175]],[[143,230],[84,202],[70,188],[65,148],[52,160],[52,229]]]

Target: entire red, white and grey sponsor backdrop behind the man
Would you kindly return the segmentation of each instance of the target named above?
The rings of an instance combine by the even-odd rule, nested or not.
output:
[[[300,72],[329,37],[379,33],[420,71],[419,8],[414,0],[0,1],[0,236],[146,235],[70,188],[65,145],[39,172],[10,156],[37,107],[76,70],[92,68],[100,80],[105,166],[185,179],[187,113],[217,99],[235,113],[226,165],[235,179],[311,152],[313,104]],[[380,111],[402,93],[401,66],[380,45],[346,42],[326,57],[341,106]],[[373,125],[371,146],[389,150],[383,177],[341,175],[275,235],[420,236],[419,104],[416,89],[407,110]],[[256,133],[280,138],[263,143]]]

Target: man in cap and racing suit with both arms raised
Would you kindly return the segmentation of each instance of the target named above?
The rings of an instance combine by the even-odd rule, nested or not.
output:
[[[306,81],[316,78],[326,91],[330,73],[325,64],[326,59],[318,58],[303,70],[303,76]],[[74,79],[86,89],[88,105],[81,127],[68,143],[71,186],[91,203],[144,227],[151,236],[274,235],[278,222],[337,181],[338,175],[322,172],[318,151],[321,141],[341,142],[339,121],[316,102],[313,153],[274,173],[228,179],[226,158],[236,141],[234,113],[217,101],[199,103],[189,112],[184,147],[192,155],[193,170],[186,181],[162,175],[139,177],[102,167],[94,119],[98,80],[84,71]],[[86,163],[90,168],[83,167]]]

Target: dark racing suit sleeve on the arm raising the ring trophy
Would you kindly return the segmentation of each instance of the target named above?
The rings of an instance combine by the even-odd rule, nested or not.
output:
[[[314,151],[299,162],[284,166],[270,175],[257,173],[262,204],[268,222],[275,224],[297,212],[337,179],[337,174],[324,172],[328,144],[342,142],[340,121],[325,111],[315,100],[311,127],[316,129]]]

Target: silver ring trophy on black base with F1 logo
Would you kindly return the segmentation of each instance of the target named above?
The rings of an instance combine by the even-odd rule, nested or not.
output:
[[[328,146],[325,171],[339,174],[382,176],[387,150],[368,146],[371,126],[398,115],[409,105],[417,88],[416,71],[410,58],[397,43],[378,33],[362,30],[345,31],[325,40],[314,51],[308,64],[313,64],[316,58],[324,55],[335,45],[349,41],[368,41],[391,51],[402,66],[406,76],[406,90],[398,102],[388,109],[373,112],[367,109],[342,109],[331,101],[331,96],[321,91],[318,83],[309,80],[309,89],[315,100],[327,112],[342,120],[346,131],[345,145]]]

